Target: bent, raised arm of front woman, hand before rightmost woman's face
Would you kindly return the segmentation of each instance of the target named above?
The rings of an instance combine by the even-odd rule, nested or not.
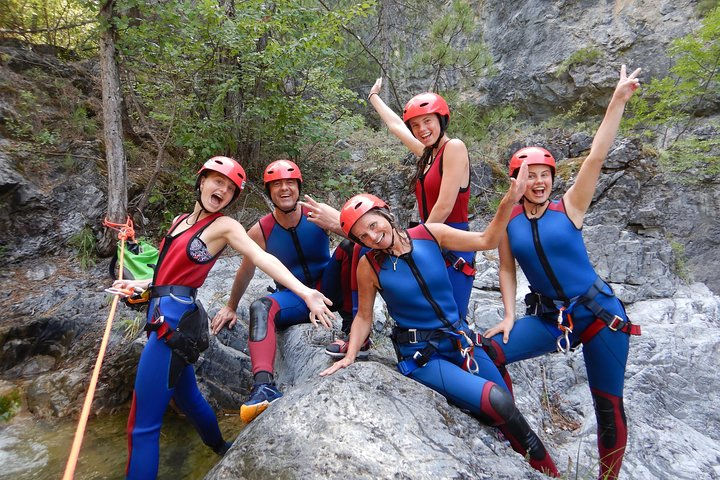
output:
[[[430,232],[435,236],[443,248],[449,250],[460,250],[465,252],[492,250],[497,248],[500,240],[505,235],[505,229],[510,221],[513,205],[515,205],[525,193],[528,168],[525,162],[518,170],[517,179],[510,179],[510,188],[500,200],[500,206],[495,216],[482,232],[465,232],[447,225],[432,223],[426,224]]]

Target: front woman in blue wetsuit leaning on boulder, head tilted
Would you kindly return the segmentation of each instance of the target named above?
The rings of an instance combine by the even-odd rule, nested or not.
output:
[[[558,476],[498,369],[483,349],[474,348],[478,336],[458,314],[442,263],[443,248],[475,251],[497,246],[512,206],[524,191],[527,168],[522,170],[484,232],[436,223],[403,230],[385,202],[374,195],[356,195],[345,203],[340,212],[343,232],[371,250],[358,263],[359,305],[347,355],[320,375],[355,361],[361,339],[372,328],[373,303],[379,293],[396,324],[392,339],[398,370],[483,423],[497,426],[535,469]]]

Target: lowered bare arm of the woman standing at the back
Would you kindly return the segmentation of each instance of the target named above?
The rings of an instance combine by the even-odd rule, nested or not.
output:
[[[453,139],[445,144],[442,162],[440,192],[426,223],[445,223],[455,207],[458,192],[470,182],[470,160],[462,140]]]

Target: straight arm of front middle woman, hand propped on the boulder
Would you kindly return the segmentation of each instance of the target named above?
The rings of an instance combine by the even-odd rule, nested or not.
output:
[[[373,321],[373,307],[375,295],[377,294],[377,276],[370,266],[367,258],[360,259],[357,268],[358,279],[358,311],[350,327],[350,343],[344,358],[333,363],[329,368],[320,372],[320,376],[331,375],[341,368],[345,368],[355,362],[355,357],[360,351],[365,339],[370,335]]]

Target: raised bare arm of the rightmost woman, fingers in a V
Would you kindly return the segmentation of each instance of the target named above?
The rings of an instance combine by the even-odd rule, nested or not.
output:
[[[615,141],[615,135],[625,111],[625,104],[640,86],[640,80],[637,78],[639,74],[639,68],[629,76],[626,73],[625,65],[620,68],[620,81],[615,87],[605,117],[595,134],[590,154],[580,167],[575,184],[570,187],[563,197],[568,217],[578,228],[582,226],[585,212],[587,212],[590,202],[592,202],[595,187],[600,177],[600,170],[605,163],[610,147]]]

